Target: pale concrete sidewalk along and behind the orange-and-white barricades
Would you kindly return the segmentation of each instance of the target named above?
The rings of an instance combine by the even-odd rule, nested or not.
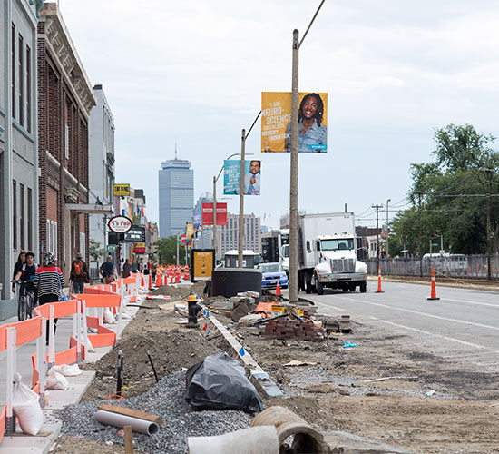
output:
[[[64,289],[65,291],[67,289]],[[136,304],[142,304],[144,296],[139,296]],[[122,320],[121,330],[116,331],[117,323],[105,325],[107,328],[116,332],[117,339],[122,336],[122,331],[128,323],[132,321],[134,315],[139,311],[138,307],[127,308],[124,313],[130,316],[128,320]],[[2,324],[17,321],[17,317],[2,321]],[[73,322],[71,318],[62,318],[57,322],[57,331],[55,333],[55,351],[65,350],[69,347],[69,337],[73,332]],[[31,388],[33,366],[31,355],[36,350],[35,341],[26,344],[17,349],[17,372],[23,377],[23,382]],[[93,353],[87,353],[85,362],[95,362],[100,360],[106,353],[112,350],[112,347],[102,347],[95,349]],[[4,405],[6,399],[5,370],[6,370],[6,351],[0,353],[0,405]],[[54,416],[54,410],[64,408],[66,405],[78,402],[85,390],[92,384],[94,371],[83,371],[78,377],[67,377],[69,381],[69,390],[47,390],[46,396],[48,403],[44,408],[44,426],[41,432],[36,436],[25,435],[21,432],[19,426],[16,427],[15,435],[4,435],[0,443],[0,454],[44,454],[54,444],[61,431],[61,421]]]

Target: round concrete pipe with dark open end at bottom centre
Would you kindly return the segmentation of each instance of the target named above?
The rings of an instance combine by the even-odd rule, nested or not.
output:
[[[250,427],[259,426],[275,426],[278,431],[279,447],[282,447],[285,439],[293,437],[291,445],[293,453],[326,454],[329,452],[324,436],[312,428],[306,420],[284,407],[269,407],[259,413],[251,421]]]

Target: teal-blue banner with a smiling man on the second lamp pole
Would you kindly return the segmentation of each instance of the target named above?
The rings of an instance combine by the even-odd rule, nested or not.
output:
[[[261,161],[245,161],[244,195],[259,195],[260,180]],[[240,193],[240,161],[226,160],[223,162],[223,193],[225,195],[238,195]]]

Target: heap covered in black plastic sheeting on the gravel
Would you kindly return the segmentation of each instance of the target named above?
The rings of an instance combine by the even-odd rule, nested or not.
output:
[[[263,410],[244,368],[227,353],[207,356],[187,370],[185,400],[196,410]]]

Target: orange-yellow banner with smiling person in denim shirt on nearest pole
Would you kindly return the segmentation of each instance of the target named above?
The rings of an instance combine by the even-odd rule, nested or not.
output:
[[[298,94],[298,152],[328,152],[328,94]],[[261,94],[261,152],[290,152],[291,93]]]

